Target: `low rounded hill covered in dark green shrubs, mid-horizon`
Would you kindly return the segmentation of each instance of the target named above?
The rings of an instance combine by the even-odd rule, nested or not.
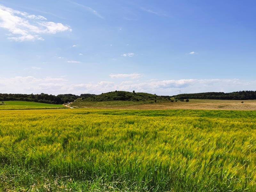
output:
[[[152,101],[163,102],[168,101],[167,98],[150,94],[150,93],[136,93],[126,91],[114,91],[102,93],[100,95],[93,95],[82,99],[83,101]]]

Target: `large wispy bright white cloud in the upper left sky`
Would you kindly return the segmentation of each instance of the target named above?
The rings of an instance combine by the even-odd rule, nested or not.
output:
[[[41,15],[29,15],[0,4],[0,27],[8,30],[8,39],[13,41],[44,40],[43,34],[72,31],[68,25],[45,21]]]

